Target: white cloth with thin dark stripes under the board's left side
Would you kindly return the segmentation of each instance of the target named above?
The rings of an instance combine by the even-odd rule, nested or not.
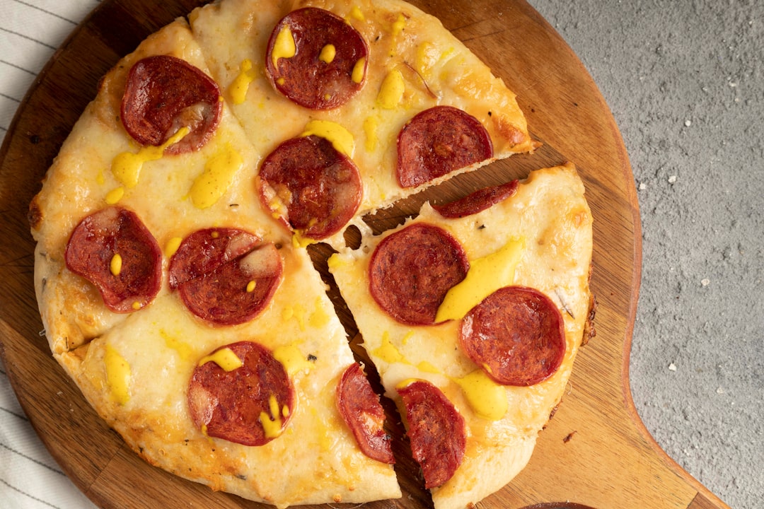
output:
[[[27,89],[97,0],[0,0],[0,143]],[[94,509],[40,442],[0,361],[0,508]]]

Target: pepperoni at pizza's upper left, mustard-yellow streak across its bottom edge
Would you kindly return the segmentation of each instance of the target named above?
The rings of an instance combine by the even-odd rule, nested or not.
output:
[[[190,132],[165,153],[201,148],[218,126],[222,101],[218,85],[201,69],[175,56],[147,56],[128,72],[122,95],[125,130],[141,145],[159,146],[180,127]]]

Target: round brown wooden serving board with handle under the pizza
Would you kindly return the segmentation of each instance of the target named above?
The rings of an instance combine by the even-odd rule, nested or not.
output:
[[[34,298],[34,242],[26,213],[40,179],[95,96],[99,78],[144,37],[198,3],[102,2],[34,82],[0,151],[0,353],[21,406],[50,453],[105,509],[262,507],[173,477],[134,455],[53,361],[40,335]],[[515,156],[406,200],[375,221],[396,221],[426,198],[455,198],[565,160],[578,166],[594,214],[591,286],[599,302],[597,336],[581,350],[562,405],[541,433],[529,465],[479,507],[727,507],[659,449],[631,400],[639,208],[623,141],[597,86],[562,38],[523,0],[413,3],[438,16],[519,95],[532,134],[544,145],[533,156]],[[312,254],[325,269],[321,249]],[[354,337],[347,316],[345,324]],[[396,447],[403,450],[403,429],[396,425]],[[431,507],[416,465],[400,458],[397,472],[403,498],[366,507]]]

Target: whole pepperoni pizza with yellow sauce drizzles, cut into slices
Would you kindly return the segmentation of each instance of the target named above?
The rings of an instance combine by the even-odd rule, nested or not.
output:
[[[138,455],[214,490],[400,498],[387,397],[435,507],[477,503],[523,467],[591,335],[583,184],[568,164],[380,235],[364,217],[538,146],[513,92],[405,2],[196,8],[102,78],[31,202],[50,350]],[[493,308],[549,347],[490,364]]]

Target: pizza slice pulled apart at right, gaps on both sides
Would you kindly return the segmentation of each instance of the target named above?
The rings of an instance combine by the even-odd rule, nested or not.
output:
[[[436,509],[528,462],[591,334],[591,224],[568,164],[425,204],[329,259]]]

